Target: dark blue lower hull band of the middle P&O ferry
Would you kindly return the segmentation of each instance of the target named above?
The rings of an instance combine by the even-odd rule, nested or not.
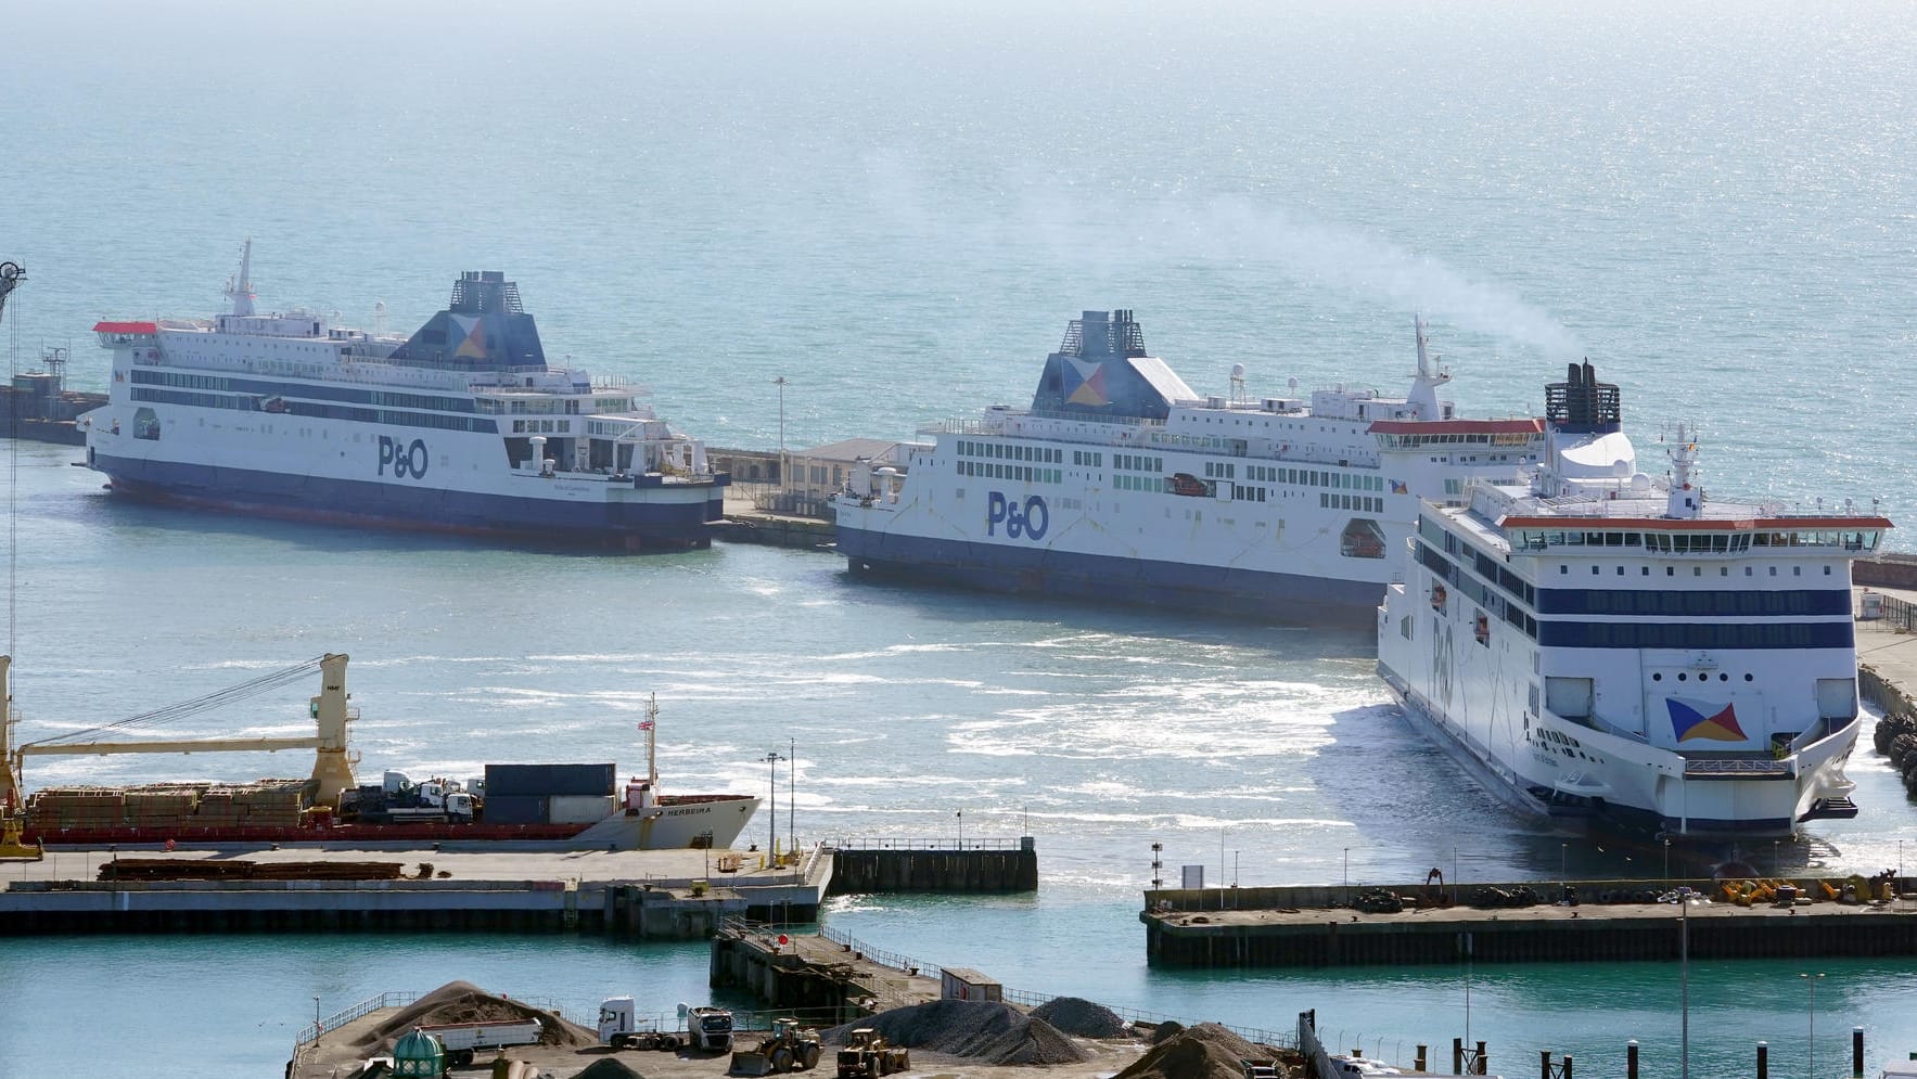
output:
[[[853,573],[1292,623],[1376,619],[1384,585],[838,527]]]

